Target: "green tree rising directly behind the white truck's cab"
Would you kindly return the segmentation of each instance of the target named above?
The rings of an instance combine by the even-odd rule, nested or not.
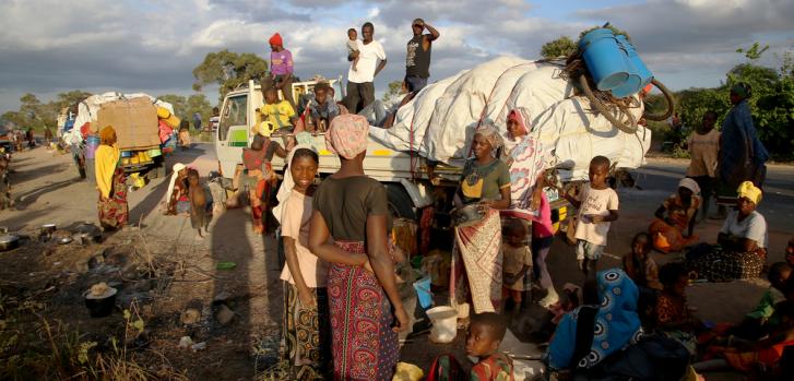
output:
[[[193,69],[193,90],[200,92],[206,85],[217,84],[221,99],[235,87],[249,80],[260,80],[268,73],[268,61],[250,53],[236,53],[227,49],[210,52]]]

